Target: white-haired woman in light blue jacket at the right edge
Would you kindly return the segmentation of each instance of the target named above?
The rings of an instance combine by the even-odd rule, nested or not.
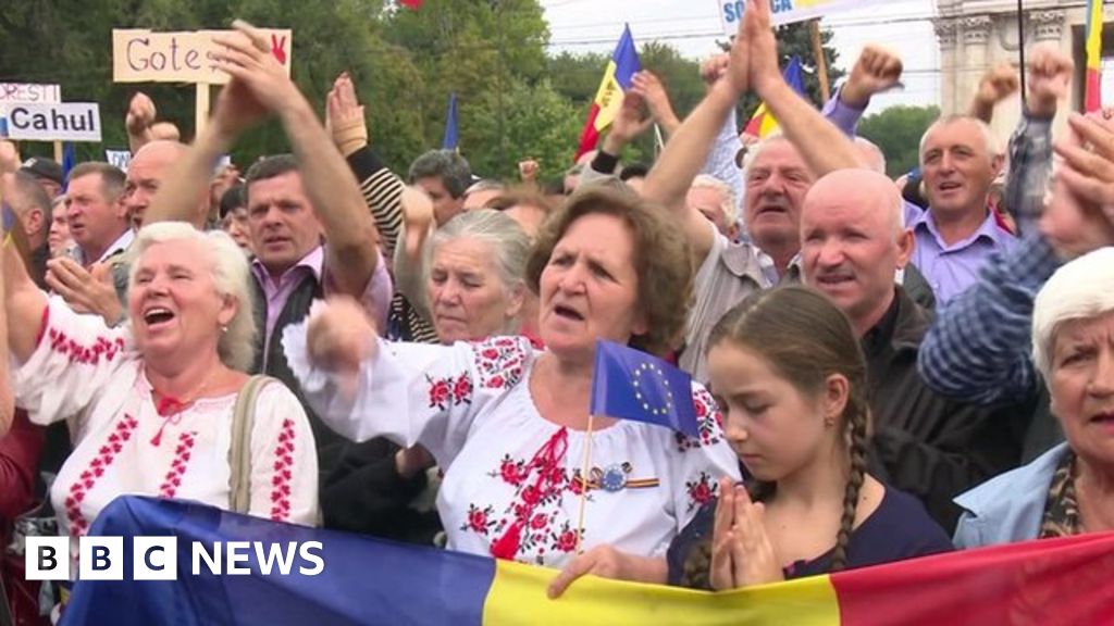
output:
[[[956,498],[957,547],[1114,530],[1114,248],[1064,265],[1037,294],[1033,361],[1066,442]]]

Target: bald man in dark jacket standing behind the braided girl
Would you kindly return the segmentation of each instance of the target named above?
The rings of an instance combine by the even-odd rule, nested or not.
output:
[[[1020,461],[1025,424],[1015,405],[948,400],[917,373],[930,317],[895,285],[913,253],[901,195],[867,169],[828,174],[801,208],[801,263],[808,285],[836,302],[861,339],[870,381],[871,472],[925,503],[947,530],[951,498]]]

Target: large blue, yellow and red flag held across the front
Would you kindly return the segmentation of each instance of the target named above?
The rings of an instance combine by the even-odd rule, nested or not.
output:
[[[123,580],[79,581],[63,626],[1114,624],[1114,534],[937,555],[723,594],[585,577],[556,600],[546,597],[553,569],[180,501],[119,498],[92,534],[124,536]],[[133,555],[137,536],[177,538],[177,580],[133,580],[133,556],[167,563],[165,554]],[[246,563],[237,565],[248,573],[217,576],[202,565],[195,575],[195,541],[207,552],[219,542],[226,566],[227,550],[237,545],[229,541],[245,541],[240,554]],[[311,541],[319,542],[320,568],[296,556]],[[295,556],[285,567],[275,559],[264,565],[257,552],[274,547]]]

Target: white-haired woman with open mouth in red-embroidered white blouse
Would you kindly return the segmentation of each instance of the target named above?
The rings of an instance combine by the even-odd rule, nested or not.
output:
[[[17,256],[4,257],[16,403],[39,424],[72,418],[74,451],[50,497],[74,555],[120,495],[229,506],[233,405],[255,333],[247,262],[226,234],[184,223],[145,227],[130,254],[123,329],[48,299]],[[254,411],[250,512],[313,524],[317,461],[305,412],[275,382]]]

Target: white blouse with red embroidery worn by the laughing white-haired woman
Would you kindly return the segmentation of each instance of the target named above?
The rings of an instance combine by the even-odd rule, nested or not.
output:
[[[14,363],[16,403],[32,422],[72,418],[74,451],[50,489],[71,555],[100,510],[120,495],[229,506],[228,450],[236,394],[159,415],[143,361],[124,330],[50,299],[42,334]],[[284,385],[256,398],[251,433],[251,515],[312,525],[317,457],[305,412]]]

